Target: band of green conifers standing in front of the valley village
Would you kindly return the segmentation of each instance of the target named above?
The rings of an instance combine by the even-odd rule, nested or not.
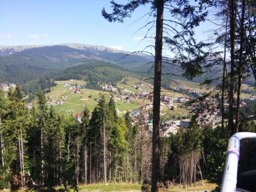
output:
[[[145,118],[149,112],[141,110],[132,124],[129,112],[118,117],[114,100],[107,102],[101,95],[91,113],[87,107],[83,109],[79,122],[48,107],[41,89],[36,106],[30,110],[19,85],[8,91],[7,98],[0,93],[1,188],[55,190],[57,186],[77,188],[80,184],[126,182],[145,186],[150,182],[152,132]],[[256,129],[255,124],[249,127]],[[190,129],[161,137],[162,187],[193,187],[198,179],[203,182],[205,178],[220,182],[227,134],[221,127],[202,129],[192,118]]]

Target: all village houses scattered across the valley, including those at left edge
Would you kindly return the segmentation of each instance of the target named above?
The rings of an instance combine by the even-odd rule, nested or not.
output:
[[[81,85],[76,85],[77,83],[62,83],[62,87],[65,88],[66,93],[68,94],[78,94],[82,95],[83,91],[86,91],[85,88]],[[10,83],[9,85],[1,83],[1,89],[4,91],[8,91],[9,88],[15,88],[15,84]],[[123,88],[122,86],[112,86],[111,84],[104,84],[101,85],[101,88],[105,92],[110,92],[111,94],[109,97],[112,97],[115,101],[129,104],[132,101],[135,100],[143,100],[146,101],[146,104],[143,104],[142,106],[136,107],[136,109],[128,110],[130,112],[130,117],[132,117],[132,124],[133,126],[138,124],[139,122],[143,122],[141,126],[144,130],[146,130],[148,136],[152,136],[152,129],[153,129],[153,122],[150,118],[150,114],[152,114],[153,109],[153,86],[152,85],[131,85],[134,91],[130,91],[127,88]],[[178,92],[187,92],[197,94],[198,96],[202,96],[205,94],[205,92],[198,92],[194,91],[192,88],[184,89],[182,86],[177,86],[176,88],[171,88],[172,90]],[[68,94],[58,95],[56,98],[50,98],[48,96],[48,106],[60,106],[65,102],[68,102]],[[176,97],[176,95],[178,97]],[[70,97],[70,96],[69,96]],[[100,100],[100,97],[94,97],[92,98],[92,95],[88,95],[88,98],[91,98],[95,101],[95,104]],[[82,98],[80,96],[80,100],[88,100],[88,98]],[[195,111],[197,111],[198,114],[198,124],[199,126],[217,126],[221,122],[221,113],[220,109],[217,109],[216,101],[210,98],[206,98],[205,102],[203,103],[191,103],[190,101],[194,98],[186,97],[186,95],[179,95],[176,94],[162,94],[161,95],[161,115],[165,115],[168,112],[179,110],[179,107],[185,106],[186,110],[188,111],[188,114],[193,114]],[[246,98],[248,100],[255,100],[254,96],[250,96]],[[191,104],[188,104],[191,103]],[[200,105],[203,105],[204,107],[200,108]],[[246,102],[242,101],[240,106],[245,106]],[[31,109],[33,107],[33,103],[27,104],[28,109]],[[116,108],[117,114],[122,114],[124,111],[121,111]],[[82,121],[82,115],[83,110],[79,113],[71,112],[69,115],[74,115],[78,122]],[[92,116],[90,115],[89,118]],[[188,129],[190,123],[190,118],[187,118],[186,116],[182,116],[180,119],[176,118],[176,120],[167,120],[160,124],[160,135],[168,137],[170,136],[170,133],[177,133],[179,129]]]

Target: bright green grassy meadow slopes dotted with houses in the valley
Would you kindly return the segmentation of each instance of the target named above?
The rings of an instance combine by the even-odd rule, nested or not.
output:
[[[153,91],[152,85],[131,77],[126,77],[124,79],[126,80],[126,83],[121,81],[120,83],[117,83],[117,86],[111,86],[111,91],[98,91],[81,88],[86,84],[83,80],[56,81],[57,86],[52,87],[51,92],[46,93],[45,97],[47,98],[48,106],[53,105],[56,112],[65,115],[80,114],[85,106],[87,106],[90,112],[92,112],[94,107],[98,104],[97,100],[100,99],[103,94],[106,95],[107,101],[109,101],[110,95],[114,97],[116,102],[115,106],[118,111],[118,116],[120,117],[125,115],[127,110],[132,111],[141,106],[152,105],[152,101],[147,98],[149,92]],[[75,87],[75,85],[77,85],[78,88]],[[135,88],[135,85],[139,85],[139,90]],[[121,90],[120,93],[117,91],[117,88]],[[75,89],[80,89],[80,92],[75,93]],[[145,97],[133,97],[140,92],[144,92]],[[165,89],[163,89],[162,94],[170,97],[184,97],[183,94]],[[32,102],[33,106],[36,106],[36,103],[37,100],[34,100]],[[162,110],[165,113],[170,113],[170,105],[162,104]],[[176,112],[176,115],[181,114],[184,114],[184,112]]]

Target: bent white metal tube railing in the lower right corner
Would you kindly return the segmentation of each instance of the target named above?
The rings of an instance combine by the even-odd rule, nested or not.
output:
[[[229,139],[226,165],[222,177],[222,192],[234,192],[237,186],[237,166],[240,156],[240,141],[242,139],[256,139],[256,133],[235,133]]]

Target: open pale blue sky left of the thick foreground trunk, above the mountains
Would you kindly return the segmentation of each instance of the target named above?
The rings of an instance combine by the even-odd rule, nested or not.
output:
[[[0,0],[0,45],[83,43],[124,51],[153,45],[153,39],[143,37],[155,31],[147,33],[150,25],[141,29],[152,20],[144,16],[149,7],[139,7],[124,23],[104,19],[103,7],[111,13],[108,0]]]

